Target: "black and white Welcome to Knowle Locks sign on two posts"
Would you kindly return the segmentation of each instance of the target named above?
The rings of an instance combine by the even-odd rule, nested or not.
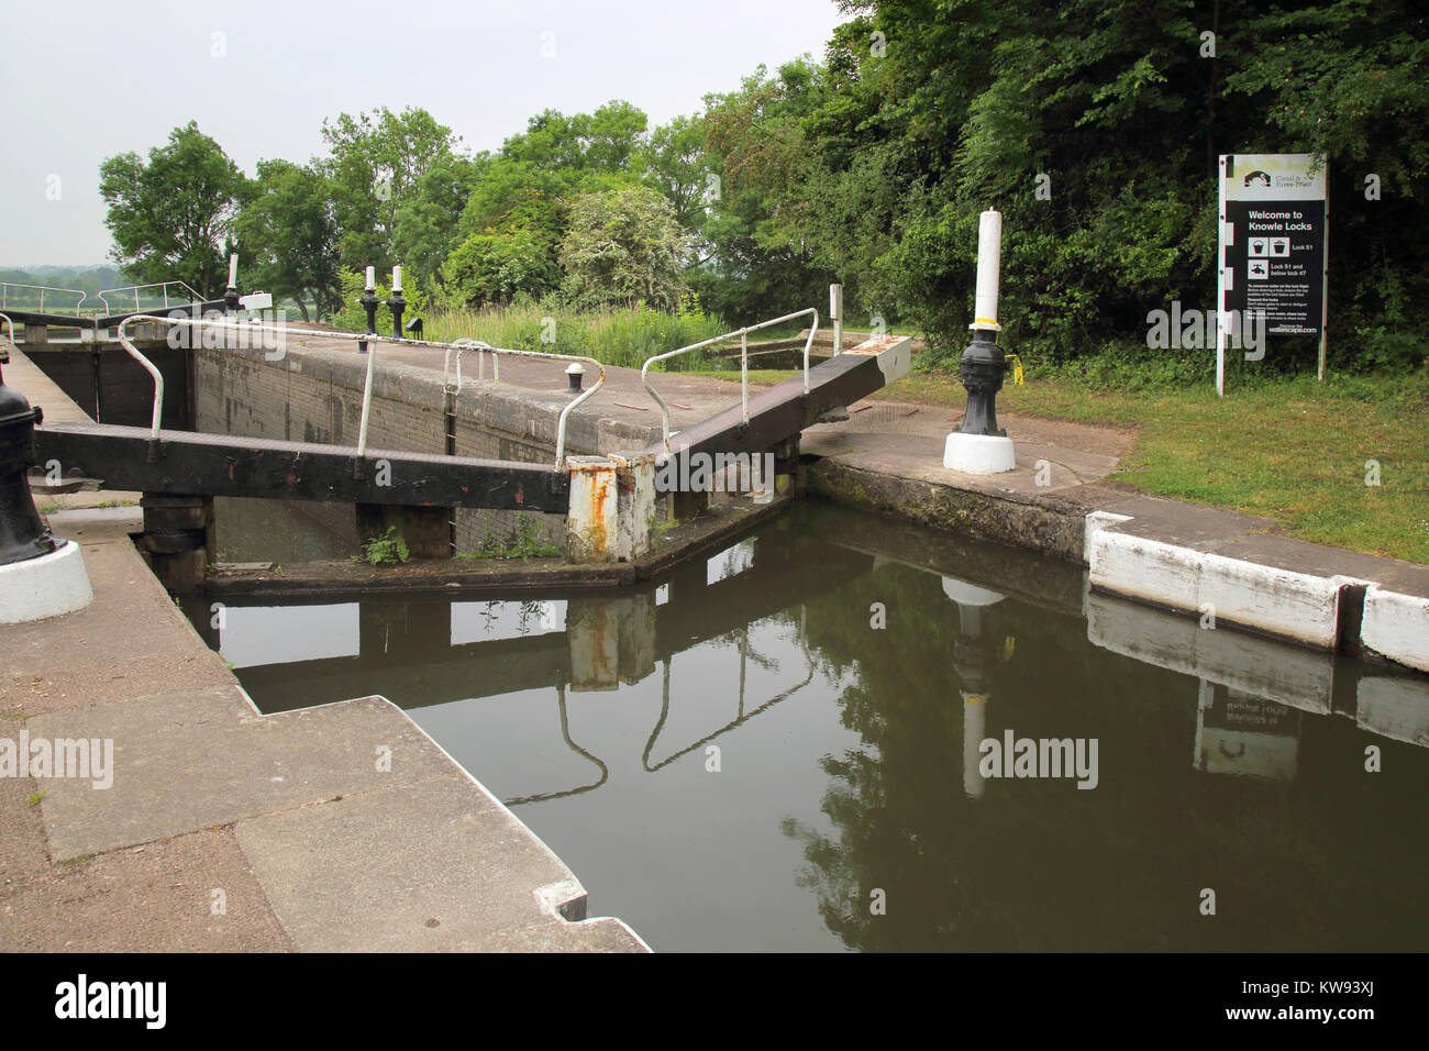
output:
[[[1220,157],[1220,237],[1216,267],[1216,393],[1226,392],[1226,342],[1245,343],[1252,319],[1260,339],[1319,336],[1325,379],[1329,200],[1325,159],[1309,153]],[[1265,353],[1262,343],[1259,356]],[[1246,355],[1246,360],[1259,360]]]

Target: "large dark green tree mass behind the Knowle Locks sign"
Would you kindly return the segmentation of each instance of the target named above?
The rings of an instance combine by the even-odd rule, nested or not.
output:
[[[1262,152],[1329,159],[1332,360],[1423,359],[1429,33],[1412,4],[843,9],[857,17],[800,119],[802,164],[760,222],[793,223],[815,260],[946,350],[966,340],[987,207],[1003,213],[1003,337],[1023,352],[1136,346],[1149,309],[1210,306],[1216,157]],[[777,156],[767,142],[740,156]],[[1395,193],[1366,200],[1368,173]]]

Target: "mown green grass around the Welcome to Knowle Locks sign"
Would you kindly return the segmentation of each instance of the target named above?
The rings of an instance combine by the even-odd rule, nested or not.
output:
[[[706,373],[716,375],[716,373]],[[792,370],[750,372],[776,383]],[[962,409],[957,376],[915,373],[873,395]],[[1190,503],[1273,519],[1305,541],[1429,563],[1429,375],[1236,378],[1129,390],[1029,378],[997,408],[1135,428],[1113,479]],[[1365,483],[1368,460],[1380,485]]]

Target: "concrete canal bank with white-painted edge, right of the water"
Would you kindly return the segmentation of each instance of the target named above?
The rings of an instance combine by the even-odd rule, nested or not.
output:
[[[1016,469],[943,468],[960,413],[865,402],[805,432],[810,488],[840,503],[1086,565],[1092,586],[1318,649],[1429,672],[1429,566],[1300,541],[1269,519],[1107,480],[1135,433],[1000,418]]]

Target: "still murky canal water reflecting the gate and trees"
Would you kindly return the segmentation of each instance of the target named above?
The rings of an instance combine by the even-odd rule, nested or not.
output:
[[[647,591],[191,615],[266,711],[404,706],[656,948],[1425,947],[1429,682],[929,538],[800,508]],[[982,778],[1013,728],[1097,786]]]

